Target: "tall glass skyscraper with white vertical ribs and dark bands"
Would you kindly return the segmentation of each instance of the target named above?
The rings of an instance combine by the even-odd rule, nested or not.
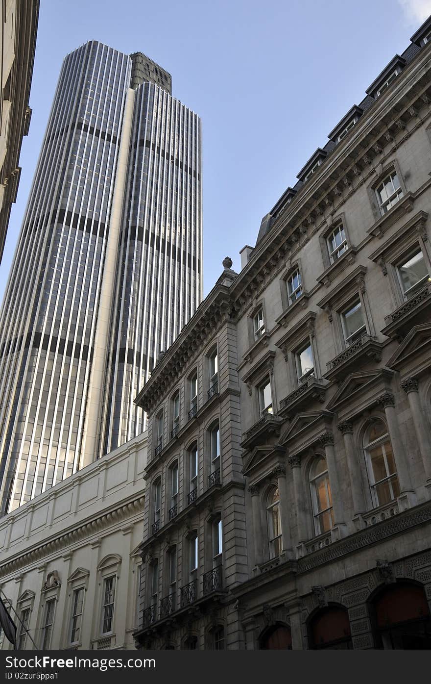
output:
[[[96,41],[64,60],[0,315],[3,513],[143,430],[201,299],[201,125],[170,88]]]

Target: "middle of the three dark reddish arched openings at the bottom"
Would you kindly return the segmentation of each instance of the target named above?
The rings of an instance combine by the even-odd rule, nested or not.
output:
[[[351,649],[348,611],[342,605],[329,605],[318,610],[308,624],[309,647]]]

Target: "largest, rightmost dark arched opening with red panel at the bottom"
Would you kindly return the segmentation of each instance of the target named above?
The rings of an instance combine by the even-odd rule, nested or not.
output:
[[[431,648],[430,608],[423,586],[397,581],[378,590],[370,603],[376,648]]]

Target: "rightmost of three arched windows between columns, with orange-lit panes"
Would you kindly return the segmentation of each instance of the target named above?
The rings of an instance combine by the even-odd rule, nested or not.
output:
[[[363,438],[363,449],[374,506],[385,505],[398,497],[400,485],[391,440],[385,423],[374,419]]]

